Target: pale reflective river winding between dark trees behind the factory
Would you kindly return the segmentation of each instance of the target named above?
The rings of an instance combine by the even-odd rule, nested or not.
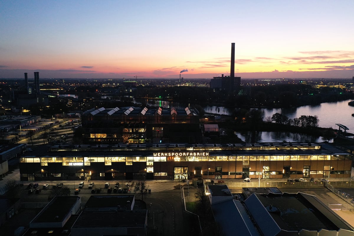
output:
[[[343,100],[339,102],[321,103],[319,105],[306,105],[297,108],[261,108],[263,120],[267,117],[272,117],[275,113],[286,115],[290,119],[298,118],[302,115],[317,116],[319,119],[318,126],[322,128],[335,128],[338,129],[336,124],[342,124],[349,128],[347,132],[354,133],[354,107],[349,106],[348,103],[352,101]],[[139,103],[134,100],[134,102]],[[160,100],[145,100],[146,104],[163,108],[185,108],[193,107],[194,104],[184,104],[176,102],[166,102]],[[206,113],[216,115],[230,115],[233,109],[226,107],[205,106],[203,107]],[[236,133],[239,138],[249,142],[249,133]],[[289,132],[259,132],[256,134],[256,142],[322,142],[321,137],[313,137],[298,133]]]

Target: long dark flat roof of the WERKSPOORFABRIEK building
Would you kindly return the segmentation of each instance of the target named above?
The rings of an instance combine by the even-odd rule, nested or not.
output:
[[[278,149],[263,149],[262,147],[270,147],[276,145]],[[307,146],[320,146],[318,149],[303,149]],[[213,150],[215,146],[224,150]],[[188,148],[198,147],[194,151],[209,152],[209,156],[220,155],[350,155],[330,144],[301,144],[291,143],[294,149],[287,149],[289,143],[263,143],[255,145],[242,144],[116,144],[116,145],[54,145],[54,146],[38,146],[32,148],[33,151],[26,152],[21,157],[33,156],[150,156],[156,152],[175,152]],[[283,148],[282,148],[283,147]],[[245,150],[249,149],[249,150]]]

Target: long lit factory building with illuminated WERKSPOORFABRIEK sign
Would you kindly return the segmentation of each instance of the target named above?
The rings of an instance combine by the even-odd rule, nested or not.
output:
[[[352,154],[329,144],[116,144],[33,148],[21,180],[350,178]]]

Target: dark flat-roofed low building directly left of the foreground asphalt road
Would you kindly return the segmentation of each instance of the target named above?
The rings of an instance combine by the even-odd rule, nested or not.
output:
[[[91,196],[71,229],[72,236],[147,234],[147,209],[134,195]]]

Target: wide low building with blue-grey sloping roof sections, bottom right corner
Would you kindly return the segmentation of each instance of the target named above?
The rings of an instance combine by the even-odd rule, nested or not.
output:
[[[225,236],[354,235],[354,228],[316,196],[279,190],[274,193],[263,188],[259,191],[267,193],[253,193],[244,201],[225,196],[225,201],[212,204],[215,220]]]

